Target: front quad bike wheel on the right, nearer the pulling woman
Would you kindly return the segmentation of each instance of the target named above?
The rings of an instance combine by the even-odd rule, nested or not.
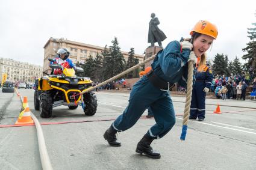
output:
[[[95,115],[98,106],[96,94],[90,91],[83,95],[84,104],[86,105],[86,107],[84,108],[84,114],[86,114],[87,116]]]

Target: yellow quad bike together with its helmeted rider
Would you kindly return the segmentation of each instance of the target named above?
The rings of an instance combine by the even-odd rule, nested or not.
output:
[[[52,73],[48,76],[36,79],[34,92],[34,108],[39,111],[40,117],[48,118],[52,115],[52,108],[57,106],[68,106],[69,109],[76,109],[81,105],[84,114],[92,116],[97,110],[97,98],[92,91],[80,93],[92,87],[92,80],[89,77],[75,76],[75,70],[83,72],[83,68],[75,67],[75,64],[68,58],[69,51],[58,50],[58,57],[48,59]],[[75,69],[74,69],[75,68]]]

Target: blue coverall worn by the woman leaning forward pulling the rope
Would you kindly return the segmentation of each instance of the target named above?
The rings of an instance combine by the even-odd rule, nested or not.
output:
[[[178,82],[186,87],[189,54],[190,49],[181,50],[180,42],[172,41],[158,52],[151,65],[152,69],[166,82]],[[169,91],[155,87],[147,76],[143,76],[134,84],[129,104],[123,114],[113,122],[113,128],[119,132],[130,129],[149,106],[156,124],[148,130],[147,135],[155,139],[162,138],[175,124],[173,104]]]

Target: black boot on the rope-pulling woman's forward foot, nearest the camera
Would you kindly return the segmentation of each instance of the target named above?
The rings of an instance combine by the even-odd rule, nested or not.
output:
[[[161,155],[157,151],[153,151],[150,144],[154,140],[154,137],[144,135],[140,142],[137,144],[136,153],[145,154],[153,159],[160,159]]]

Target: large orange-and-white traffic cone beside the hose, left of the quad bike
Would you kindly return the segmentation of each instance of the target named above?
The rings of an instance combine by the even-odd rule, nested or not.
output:
[[[34,124],[34,121],[31,118],[30,108],[28,107],[27,96],[24,96],[19,118],[15,124]]]

